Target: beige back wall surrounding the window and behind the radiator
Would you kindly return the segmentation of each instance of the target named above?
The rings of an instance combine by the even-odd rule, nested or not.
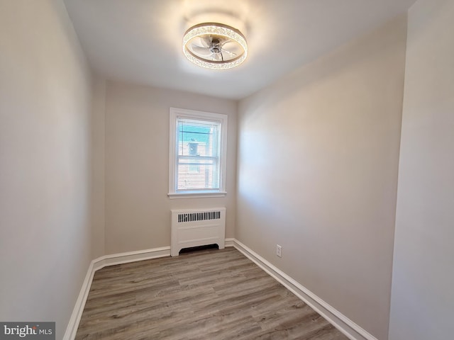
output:
[[[169,190],[169,109],[228,115],[226,198],[175,199]],[[236,101],[182,91],[106,86],[106,254],[170,245],[170,209],[227,208],[226,237],[236,210]]]

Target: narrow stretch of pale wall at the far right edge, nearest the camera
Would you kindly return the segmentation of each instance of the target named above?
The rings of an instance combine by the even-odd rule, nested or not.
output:
[[[409,11],[391,340],[453,339],[454,1]]]

